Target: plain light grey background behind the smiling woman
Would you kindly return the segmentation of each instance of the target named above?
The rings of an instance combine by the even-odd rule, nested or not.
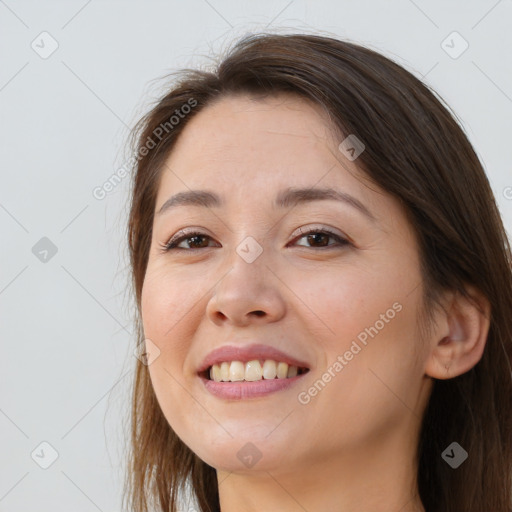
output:
[[[367,44],[452,106],[510,233],[511,20],[510,0],[0,0],[0,511],[121,509],[129,179],[103,200],[92,191],[123,165],[156,78],[250,31]],[[31,47],[51,49],[43,31],[58,43],[48,58]],[[458,58],[453,31],[469,44]],[[43,237],[57,248],[47,261],[32,250]],[[43,441],[58,453],[48,469]]]

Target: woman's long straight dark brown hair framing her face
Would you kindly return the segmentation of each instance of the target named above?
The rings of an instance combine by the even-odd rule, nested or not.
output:
[[[214,100],[237,93],[298,94],[321,105],[341,133],[364,141],[357,163],[401,201],[416,231],[427,318],[445,290],[468,297],[470,285],[490,302],[481,360],[456,378],[434,379],[418,444],[417,476],[429,512],[510,512],[509,241],[483,167],[456,116],[428,86],[371,49],[320,35],[245,36],[213,71],[179,73],[170,91],[139,121],[133,132],[137,158],[127,233],[138,308],[136,342],[144,339],[140,299],[163,162],[190,119]],[[201,512],[218,512],[215,469],[170,428],[147,366],[139,360],[136,365],[125,483],[130,510],[146,512],[152,504],[176,512],[181,491],[190,485]],[[441,457],[454,440],[469,453],[456,470]]]

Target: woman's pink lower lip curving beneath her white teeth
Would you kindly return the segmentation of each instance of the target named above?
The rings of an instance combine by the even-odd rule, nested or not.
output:
[[[256,381],[216,382],[200,375],[205,388],[219,398],[229,400],[245,400],[270,395],[293,386],[307,373],[286,379],[261,379]]]

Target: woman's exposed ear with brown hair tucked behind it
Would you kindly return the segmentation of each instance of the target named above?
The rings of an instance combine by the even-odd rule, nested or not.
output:
[[[425,374],[451,379],[471,370],[480,361],[489,332],[491,307],[474,287],[466,287],[472,300],[458,292],[446,296],[436,317],[435,334],[425,364]]]

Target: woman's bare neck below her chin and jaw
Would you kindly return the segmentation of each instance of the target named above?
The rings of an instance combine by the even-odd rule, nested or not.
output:
[[[410,421],[414,421],[409,418]],[[417,488],[411,424],[385,442],[329,452],[289,466],[217,470],[222,512],[425,512]]]

